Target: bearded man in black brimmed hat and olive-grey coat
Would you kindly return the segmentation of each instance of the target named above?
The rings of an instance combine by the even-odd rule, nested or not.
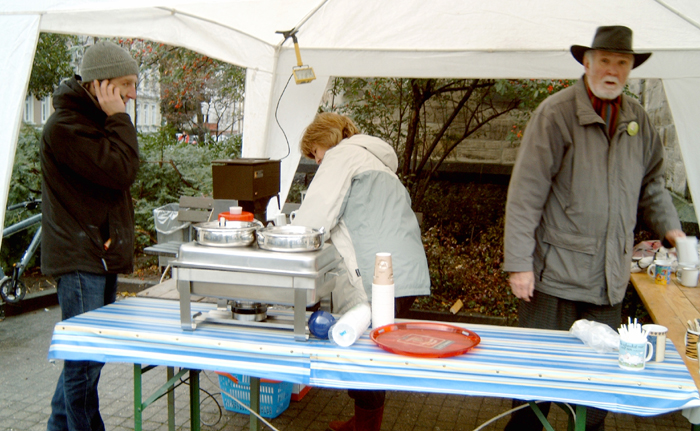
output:
[[[644,109],[622,94],[650,53],[632,30],[599,27],[572,87],[547,98],[525,130],[508,189],[504,269],[522,327],[568,330],[579,319],[619,327],[630,277],[637,208],[659,238],[684,237],[664,186],[664,147]],[[514,404],[518,404],[514,402]],[[549,403],[539,404],[546,416]],[[586,429],[607,412],[588,409]],[[506,430],[541,430],[529,408]]]

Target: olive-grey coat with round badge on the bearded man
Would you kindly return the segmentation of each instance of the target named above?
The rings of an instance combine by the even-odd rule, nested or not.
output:
[[[644,109],[623,95],[612,139],[604,127],[583,78],[545,100],[525,131],[506,205],[504,269],[534,271],[537,291],[597,305],[625,295],[638,207],[659,237],[680,229],[664,147]]]

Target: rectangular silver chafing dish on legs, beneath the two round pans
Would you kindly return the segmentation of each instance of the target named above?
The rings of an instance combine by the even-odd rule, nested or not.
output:
[[[330,311],[330,293],[340,275],[342,258],[332,244],[316,251],[284,253],[249,247],[209,247],[195,242],[180,246],[172,262],[180,294],[182,328],[194,330],[199,322],[265,325],[294,331],[298,341],[308,339],[306,308],[321,303]],[[217,310],[192,315],[192,295],[218,298]],[[275,310],[267,304],[293,306]],[[237,318],[234,319],[234,315]]]

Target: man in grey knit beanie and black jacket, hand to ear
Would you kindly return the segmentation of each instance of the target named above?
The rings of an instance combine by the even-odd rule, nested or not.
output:
[[[133,270],[134,255],[129,188],[139,150],[125,104],[136,99],[139,68],[104,41],[85,52],[80,71],[54,92],[40,150],[41,270],[56,279],[64,320],[114,302],[117,274]],[[97,396],[103,365],[64,362],[49,431],[105,429]]]

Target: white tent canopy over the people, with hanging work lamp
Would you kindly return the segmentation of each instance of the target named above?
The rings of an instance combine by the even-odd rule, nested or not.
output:
[[[600,25],[634,30],[653,52],[631,77],[661,78],[686,167],[700,165],[700,8],[697,0],[24,0],[0,5],[0,224],[22,105],[40,32],[144,38],[247,68],[243,155],[282,162],[282,199],[299,137],[331,76],[579,78],[572,44]],[[11,3],[11,4],[9,4]],[[317,79],[289,84],[295,29]],[[284,134],[275,121],[277,119]],[[696,213],[700,169],[687,169]],[[270,212],[277,210],[276,203]]]

